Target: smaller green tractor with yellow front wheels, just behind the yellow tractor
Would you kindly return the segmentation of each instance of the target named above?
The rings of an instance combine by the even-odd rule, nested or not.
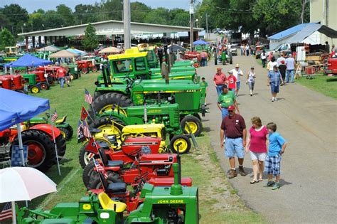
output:
[[[107,129],[108,127],[119,127],[119,124],[133,125],[133,124],[164,124],[166,133],[169,134],[170,149],[174,152],[178,150],[178,144],[180,144],[179,152],[186,154],[191,149],[191,141],[183,135],[183,128],[181,123],[188,123],[192,132],[198,132],[196,124],[191,122],[193,119],[189,119],[191,116],[187,116],[180,121],[179,105],[178,104],[162,104],[162,105],[145,105],[145,106],[130,106],[130,107],[112,107],[112,110],[102,112],[101,118],[95,120],[90,127]],[[198,125],[198,121],[195,121]],[[107,127],[107,128],[106,128]],[[186,127],[186,129],[188,129]],[[110,133],[113,134],[113,133]],[[116,133],[118,134],[118,133]],[[198,134],[198,133],[197,133]]]

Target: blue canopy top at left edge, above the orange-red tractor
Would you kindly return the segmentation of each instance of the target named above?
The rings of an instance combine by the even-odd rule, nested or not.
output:
[[[49,100],[0,88],[0,131],[49,109]]]

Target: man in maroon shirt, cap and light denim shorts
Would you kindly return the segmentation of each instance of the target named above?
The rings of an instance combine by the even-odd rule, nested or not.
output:
[[[230,161],[230,174],[228,178],[237,176],[235,169],[235,156],[239,162],[239,174],[246,176],[243,169],[243,161],[245,158],[245,146],[247,130],[245,119],[240,114],[235,114],[235,107],[228,107],[228,116],[223,119],[220,129],[220,146],[223,148],[225,137],[225,156]]]

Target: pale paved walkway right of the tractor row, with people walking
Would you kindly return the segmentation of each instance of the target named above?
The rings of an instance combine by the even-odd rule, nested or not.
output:
[[[266,85],[267,72],[255,58],[235,56],[234,64],[247,73],[255,67],[257,80],[255,95],[250,97],[245,82],[238,97],[240,112],[250,127],[250,118],[259,116],[263,124],[276,122],[278,131],[289,142],[282,159],[282,187],[277,191],[263,188],[266,181],[251,185],[252,165],[246,154],[245,167],[250,173],[230,180],[238,194],[270,223],[335,223],[336,222],[336,100],[317,92],[291,84],[281,87],[278,102],[271,102]],[[199,68],[198,75],[205,77],[210,87],[208,102],[210,113],[203,125],[210,135],[212,146],[222,168],[229,169],[223,149],[220,149],[221,114],[216,107],[217,95],[212,78],[215,68],[223,71],[234,65],[214,65]],[[314,82],[314,80],[313,80]]]

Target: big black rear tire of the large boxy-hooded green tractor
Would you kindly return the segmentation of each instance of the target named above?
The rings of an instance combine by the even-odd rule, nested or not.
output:
[[[91,117],[95,117],[95,112],[100,112],[104,107],[108,105],[119,105],[119,107],[129,107],[134,105],[129,97],[122,95],[121,93],[117,92],[107,92],[103,95],[100,95],[92,102],[92,107],[87,110]],[[88,121],[88,123],[91,123]]]

